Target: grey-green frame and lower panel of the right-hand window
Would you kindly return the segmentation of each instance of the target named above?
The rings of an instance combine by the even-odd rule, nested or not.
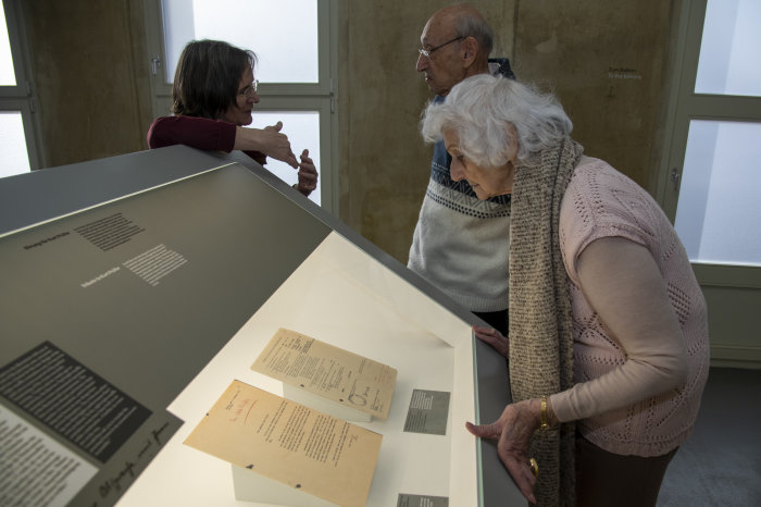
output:
[[[761,98],[696,94],[708,0],[681,0],[663,147],[654,194],[672,223],[691,120],[761,122]],[[672,174],[676,175],[674,181]],[[713,366],[761,368],[761,268],[694,262],[709,304]],[[756,310],[753,310],[756,309]]]

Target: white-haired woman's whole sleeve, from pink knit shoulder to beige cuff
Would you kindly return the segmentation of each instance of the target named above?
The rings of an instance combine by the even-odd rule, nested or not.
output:
[[[598,343],[620,350],[623,361],[608,362],[611,367],[599,376],[587,371],[574,387],[552,395],[561,422],[631,406],[684,383],[687,375],[679,323],[653,258],[654,221],[634,183],[622,183],[600,161],[596,165],[577,168],[563,197],[563,260],[575,286],[574,313],[594,311],[582,319],[586,324],[574,325],[599,334]],[[600,355],[598,362],[614,357],[603,357],[597,348],[584,350],[585,356]]]

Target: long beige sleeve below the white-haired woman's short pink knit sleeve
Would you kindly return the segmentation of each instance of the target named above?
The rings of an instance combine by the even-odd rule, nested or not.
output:
[[[550,397],[558,420],[597,416],[686,381],[687,351],[658,267],[641,245],[621,237],[591,243],[579,260],[582,290],[625,361]]]

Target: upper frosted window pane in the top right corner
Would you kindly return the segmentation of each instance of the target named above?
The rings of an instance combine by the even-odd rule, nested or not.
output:
[[[708,0],[697,94],[761,96],[759,26],[759,0]]]

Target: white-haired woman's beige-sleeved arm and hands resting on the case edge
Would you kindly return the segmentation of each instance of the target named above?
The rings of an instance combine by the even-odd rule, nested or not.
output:
[[[627,360],[602,376],[548,397],[550,425],[656,396],[683,383],[687,373],[678,321],[658,265],[645,247],[622,237],[597,239],[585,248],[577,265],[585,297]],[[492,333],[482,332],[478,337],[500,349],[501,341]],[[535,502],[536,482],[526,453],[540,420],[540,400],[528,399],[508,405],[491,424],[466,423],[474,435],[499,441],[499,457],[529,502]]]

